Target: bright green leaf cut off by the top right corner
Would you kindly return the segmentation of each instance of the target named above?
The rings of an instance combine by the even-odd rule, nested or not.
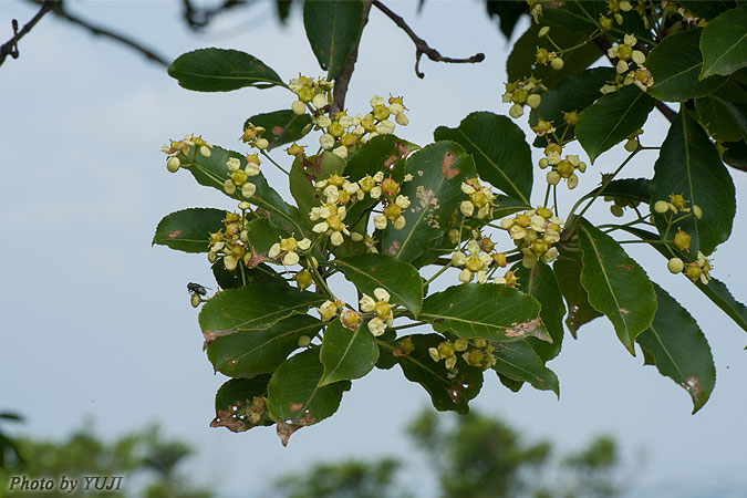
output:
[[[727,10],[703,29],[701,77],[727,76],[747,66],[747,6]]]

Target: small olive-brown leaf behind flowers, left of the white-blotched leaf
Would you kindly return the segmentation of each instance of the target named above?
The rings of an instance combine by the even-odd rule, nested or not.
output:
[[[299,206],[299,216],[309,228],[318,222],[309,218],[311,208],[319,207],[324,200],[322,190],[317,189],[314,184],[329,178],[334,173],[342,174],[344,168],[345,162],[329,152],[310,157],[300,155],[293,160],[289,179],[290,190]]]

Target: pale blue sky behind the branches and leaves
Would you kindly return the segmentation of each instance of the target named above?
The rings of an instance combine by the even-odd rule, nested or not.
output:
[[[456,126],[473,111],[508,112],[500,103],[508,48],[483,14],[483,2],[429,0],[419,18],[416,2],[390,4],[442,53],[481,51],[486,61],[424,60],[426,77],[418,80],[409,40],[374,11],[351,83],[351,111],[365,110],[375,93],[402,94],[411,125],[401,134],[422,145],[436,126]],[[269,4],[221,20],[203,35],[184,28],[176,1],[89,1],[71,8],[167,58],[203,46],[235,48],[284,79],[299,71],[321,75],[300,15],[280,29]],[[9,37],[11,18],[24,23],[34,12],[23,2],[1,0],[0,41]],[[289,107],[292,96],[281,89],[188,92],[164,69],[51,15],[22,40],[20,51],[20,59],[0,68],[0,408],[25,415],[25,432],[53,437],[80,426],[86,415],[107,436],[158,421],[168,434],[199,447],[195,477],[227,497],[263,496],[272,477],[302,470],[317,458],[409,450],[402,428],[428,397],[397,367],[355,381],[340,412],[297,433],[288,448],[271,428],[237,435],[208,427],[215,391],[225,378],[214,376],[201,352],[185,286],[215,287],[214,281],[204,257],[152,248],[151,239],[170,211],[232,208],[232,203],[184,172],[168,174],[159,148],[168,138],[198,133],[241,149],[243,120]],[[666,122],[652,114],[644,143],[661,142],[665,131]],[[596,185],[599,173],[612,170],[621,156],[619,149],[604,154],[577,191]],[[627,176],[650,176],[654,159],[641,154]],[[541,185],[539,169],[536,176]],[[744,227],[747,176],[733,176],[735,227]],[[287,191],[282,176],[268,177]],[[568,196],[560,201],[566,210],[572,204]],[[601,207],[593,216],[603,219],[609,211]],[[743,301],[745,243],[737,234],[719,248],[714,271]],[[745,332],[684,279],[670,276],[653,251],[635,247],[630,253],[692,310],[710,342],[718,378],[701,413],[692,416],[686,393],[653,367],[642,367],[641,355],[630,356],[602,319],[581,329],[578,341],[569,339],[549,364],[560,377],[560,401],[529,387],[513,394],[488,373],[474,406],[566,449],[600,432],[616,436],[631,459],[645,447],[631,496],[736,497],[747,488]]]

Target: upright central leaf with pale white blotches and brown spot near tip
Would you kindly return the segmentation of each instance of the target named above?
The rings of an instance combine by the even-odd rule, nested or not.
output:
[[[461,184],[475,176],[475,163],[459,144],[436,142],[409,156],[405,166],[413,175],[401,188],[412,203],[402,210],[405,227],[396,230],[388,224],[381,240],[382,252],[412,261],[446,232],[454,211],[466,199]]]

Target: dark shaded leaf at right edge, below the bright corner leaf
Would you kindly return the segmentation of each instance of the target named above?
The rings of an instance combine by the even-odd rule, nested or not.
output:
[[[719,142],[747,138],[747,89],[729,80],[718,91],[695,100],[698,120]]]

